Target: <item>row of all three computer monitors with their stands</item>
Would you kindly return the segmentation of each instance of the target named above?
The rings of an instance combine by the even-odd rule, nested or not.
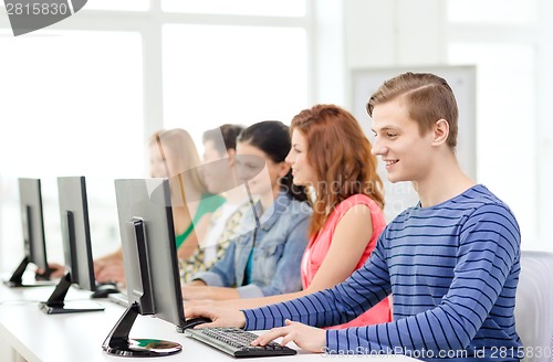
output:
[[[40,179],[19,179],[24,258],[7,285],[48,284],[49,266],[42,214]],[[65,295],[73,285],[94,291],[94,267],[84,177],[59,178],[58,191],[66,274],[48,301],[46,313],[97,311],[103,308],[66,308]],[[119,234],[127,285],[128,307],[106,338],[103,349],[115,355],[165,355],[179,352],[178,343],[129,339],[138,315],[155,315],[177,327],[185,326],[170,192],[167,179],[115,180]],[[23,283],[29,263],[46,270],[36,281]],[[52,283],[50,283],[51,285]]]

